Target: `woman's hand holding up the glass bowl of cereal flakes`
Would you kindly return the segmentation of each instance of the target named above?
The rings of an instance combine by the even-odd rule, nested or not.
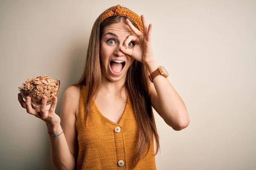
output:
[[[58,98],[54,96],[52,98],[52,104],[50,105],[49,110],[47,110],[47,97],[43,96],[41,106],[40,108],[32,108],[31,105],[31,99],[29,96],[26,97],[26,102],[24,102],[21,94],[18,94],[18,100],[20,102],[20,105],[22,108],[25,108],[27,113],[32,114],[40,119],[42,119],[47,126],[49,127],[55,127],[57,125],[60,125],[61,119],[60,117],[55,113],[55,108],[57,106],[57,100]]]

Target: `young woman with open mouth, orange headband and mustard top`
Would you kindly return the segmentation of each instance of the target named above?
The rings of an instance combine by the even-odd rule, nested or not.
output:
[[[93,25],[84,74],[64,91],[61,117],[57,97],[47,110],[44,96],[36,111],[19,95],[21,106],[46,122],[57,169],[155,170],[152,107],[174,130],[189,125],[182,99],[154,58],[151,30],[143,15],[111,7]]]

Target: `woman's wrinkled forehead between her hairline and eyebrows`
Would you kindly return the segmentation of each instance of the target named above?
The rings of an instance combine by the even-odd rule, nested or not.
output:
[[[108,32],[114,32],[116,34],[121,35],[126,35],[126,34],[134,34],[131,31],[131,28],[124,22],[119,22],[119,23],[113,23],[105,27],[103,31],[103,35],[105,35]]]

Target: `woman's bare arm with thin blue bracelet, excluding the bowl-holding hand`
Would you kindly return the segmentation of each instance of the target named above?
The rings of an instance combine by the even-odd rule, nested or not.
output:
[[[52,134],[64,134],[54,137],[50,135],[52,162],[57,169],[73,170],[76,166],[77,156],[77,133],[76,133],[76,111],[79,102],[79,89],[69,87],[64,91],[61,103],[61,124],[49,127]]]

